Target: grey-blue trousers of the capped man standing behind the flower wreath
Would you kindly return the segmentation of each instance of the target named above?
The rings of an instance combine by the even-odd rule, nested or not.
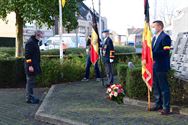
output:
[[[108,79],[107,84],[113,84],[114,82],[114,76],[113,76],[113,65],[112,63],[104,63],[105,71]]]

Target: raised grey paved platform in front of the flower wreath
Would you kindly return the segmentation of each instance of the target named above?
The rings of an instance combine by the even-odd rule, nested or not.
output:
[[[146,108],[106,99],[100,83],[52,86],[36,113],[38,120],[66,125],[188,125],[188,116],[161,116]]]

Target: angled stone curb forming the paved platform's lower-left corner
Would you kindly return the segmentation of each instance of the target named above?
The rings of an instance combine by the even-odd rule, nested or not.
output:
[[[50,96],[52,95],[52,93],[55,91],[55,85],[53,85],[50,90],[48,91],[46,97],[44,98],[41,106],[39,107],[39,109],[37,110],[36,114],[35,114],[35,119],[42,121],[42,122],[46,122],[46,123],[50,123],[50,124],[55,124],[55,125],[87,125],[84,123],[80,123],[80,122],[76,122],[70,119],[65,119],[63,117],[57,117],[55,115],[48,115],[45,112],[45,107],[49,101]]]

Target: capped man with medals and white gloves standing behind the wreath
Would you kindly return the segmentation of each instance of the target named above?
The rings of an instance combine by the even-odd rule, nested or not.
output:
[[[102,59],[105,65],[105,71],[108,78],[106,87],[109,87],[114,82],[113,77],[113,67],[114,62],[114,45],[112,39],[109,37],[109,30],[104,30],[102,32],[103,45],[102,45]]]

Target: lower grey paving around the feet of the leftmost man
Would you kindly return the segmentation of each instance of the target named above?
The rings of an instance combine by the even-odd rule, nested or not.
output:
[[[44,97],[47,89],[36,89]],[[24,89],[0,89],[0,125],[49,125],[34,119],[39,105],[25,103]]]

